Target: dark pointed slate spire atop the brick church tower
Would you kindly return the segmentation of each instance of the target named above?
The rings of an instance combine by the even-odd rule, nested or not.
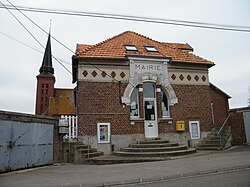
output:
[[[47,45],[45,48],[45,53],[43,56],[43,63],[39,70],[40,74],[54,74],[54,68],[52,66],[52,53],[51,53],[51,42],[50,42],[50,33],[48,36]]]

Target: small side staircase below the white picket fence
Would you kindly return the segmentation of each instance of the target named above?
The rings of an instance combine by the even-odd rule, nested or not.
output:
[[[87,159],[103,154],[103,152],[99,152],[81,141],[66,141],[63,143],[63,160],[67,163],[84,164]]]

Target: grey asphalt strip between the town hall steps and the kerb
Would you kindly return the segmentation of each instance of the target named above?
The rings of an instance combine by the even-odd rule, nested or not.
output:
[[[0,175],[0,187],[102,186],[250,167],[250,146],[175,160],[116,165],[57,165]]]

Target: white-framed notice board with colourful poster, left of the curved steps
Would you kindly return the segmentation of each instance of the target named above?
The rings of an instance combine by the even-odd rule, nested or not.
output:
[[[98,143],[110,143],[110,123],[97,123]]]

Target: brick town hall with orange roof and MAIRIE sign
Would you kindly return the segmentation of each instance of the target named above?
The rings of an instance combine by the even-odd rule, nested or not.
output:
[[[195,147],[228,116],[228,99],[209,82],[215,64],[189,44],[123,32],[72,57],[78,136],[106,154],[145,139]]]

